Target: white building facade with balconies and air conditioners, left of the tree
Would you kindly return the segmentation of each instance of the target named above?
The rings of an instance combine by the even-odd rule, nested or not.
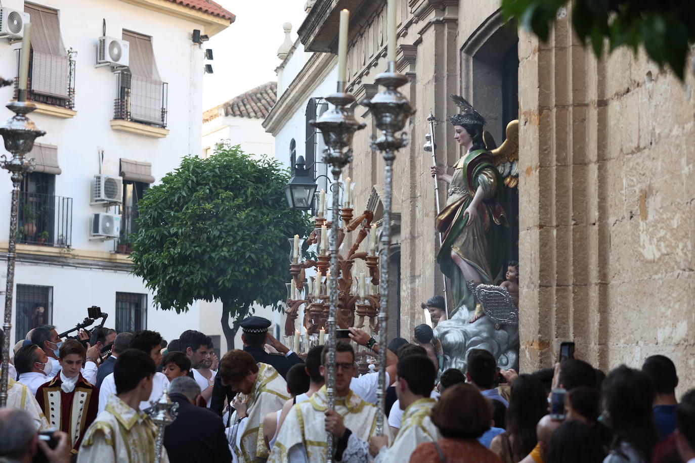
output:
[[[37,169],[22,185],[11,342],[41,323],[67,330],[91,305],[118,331],[157,330],[171,340],[199,328],[206,317],[197,303],[185,314],[154,308],[154,294],[129,273],[128,234],[142,192],[201,152],[204,50],[194,31],[214,35],[234,15],[203,1],[7,0],[3,8],[30,12],[28,99],[39,106],[30,118],[46,131],[30,154]],[[127,42],[111,55],[115,65],[95,66],[101,36]],[[20,47],[0,39],[4,78],[17,75]],[[14,97],[12,87],[0,94]],[[0,119],[11,115],[0,110]],[[122,192],[113,181],[102,184],[110,205],[94,204],[97,174],[123,180]],[[8,247],[12,187],[3,181],[0,252]],[[101,230],[92,229],[95,220]]]

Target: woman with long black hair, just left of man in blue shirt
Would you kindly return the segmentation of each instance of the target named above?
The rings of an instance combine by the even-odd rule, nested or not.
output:
[[[603,381],[603,403],[613,429],[604,463],[648,463],[659,442],[652,418],[654,386],[646,375],[625,365]]]

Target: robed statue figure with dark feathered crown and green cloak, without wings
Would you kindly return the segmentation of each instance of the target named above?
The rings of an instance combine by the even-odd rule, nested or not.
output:
[[[504,184],[493,165],[491,154],[482,140],[485,119],[461,96],[452,95],[461,113],[449,121],[454,138],[465,153],[454,166],[454,174],[432,166],[432,176],[449,183],[445,208],[436,217],[436,227],[443,233],[437,255],[441,271],[451,278],[454,297],[449,318],[462,306],[475,307],[473,293],[466,282],[493,285],[502,269],[505,246],[502,246],[507,219],[500,202]],[[482,316],[476,310],[475,321]]]

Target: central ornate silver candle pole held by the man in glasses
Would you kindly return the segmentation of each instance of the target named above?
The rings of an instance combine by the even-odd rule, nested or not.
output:
[[[331,165],[331,174],[334,180],[341,178],[343,167],[352,162],[352,136],[355,131],[364,128],[354,119],[350,105],[354,102],[354,96],[345,93],[345,82],[339,81],[336,93],[326,97],[329,103],[334,105],[332,110],[324,112],[318,121],[309,121],[309,124],[318,128],[323,135],[326,148],[323,154],[323,162]],[[328,408],[335,408],[335,384],[336,384],[336,312],[338,310],[338,230],[340,228],[340,201],[338,192],[333,192],[333,214],[331,234],[328,244],[331,252],[331,281],[328,285],[328,376],[326,378],[326,394]],[[320,284],[320,282],[316,282]],[[326,461],[333,461],[334,439],[331,432],[326,436]]]

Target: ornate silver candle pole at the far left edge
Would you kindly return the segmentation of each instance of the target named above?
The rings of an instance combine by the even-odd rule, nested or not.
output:
[[[36,109],[34,103],[24,101],[24,90],[20,90],[20,100],[10,101],[7,104],[12,112],[15,113],[8,121],[0,127],[0,135],[5,142],[5,149],[12,153],[12,159],[2,156],[0,166],[7,169],[12,178],[12,206],[10,209],[10,237],[7,249],[7,286],[5,289],[5,342],[2,350],[2,376],[0,377],[0,407],[7,405],[8,389],[8,368],[10,365],[10,329],[12,328],[12,301],[15,289],[15,240],[17,239],[17,221],[19,220],[19,185],[22,183],[24,174],[33,171],[33,159],[26,159],[24,155],[34,147],[36,137],[45,135],[44,131],[38,130],[34,123],[26,117],[29,112]]]

